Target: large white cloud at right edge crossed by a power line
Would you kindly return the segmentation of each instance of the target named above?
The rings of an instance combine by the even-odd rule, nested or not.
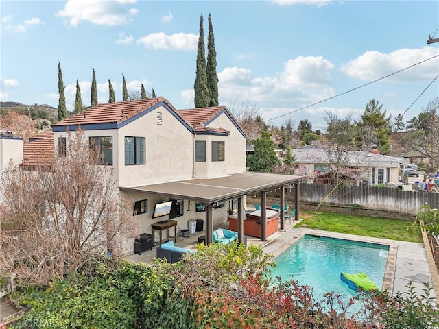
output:
[[[349,77],[361,80],[376,80],[390,73],[412,66],[423,60],[439,55],[437,47],[423,47],[422,49],[399,49],[392,53],[366,51],[342,66],[342,72]],[[439,67],[439,58],[428,60],[423,64],[388,77],[385,81],[410,82],[413,80],[432,79],[436,76]]]

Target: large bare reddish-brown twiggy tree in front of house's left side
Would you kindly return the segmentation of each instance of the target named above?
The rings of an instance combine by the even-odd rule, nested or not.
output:
[[[121,256],[137,223],[121,208],[110,167],[81,130],[67,134],[66,156],[38,158],[34,171],[10,164],[0,184],[0,276],[47,285],[108,249]],[[26,162],[23,163],[26,166]],[[26,167],[25,167],[26,168]],[[6,247],[7,246],[7,247]]]

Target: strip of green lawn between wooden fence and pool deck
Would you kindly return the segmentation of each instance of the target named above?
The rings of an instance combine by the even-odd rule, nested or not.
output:
[[[307,210],[300,211],[300,217],[303,220],[296,224],[296,227],[306,225],[318,230],[423,243],[419,226],[412,227],[410,221]],[[407,230],[409,227],[412,229]]]

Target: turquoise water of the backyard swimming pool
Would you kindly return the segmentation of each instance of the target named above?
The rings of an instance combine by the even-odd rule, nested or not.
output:
[[[305,234],[276,258],[277,266],[270,271],[273,278],[313,287],[318,300],[334,291],[347,304],[355,292],[340,280],[340,273],[364,272],[381,289],[388,251],[387,245]]]

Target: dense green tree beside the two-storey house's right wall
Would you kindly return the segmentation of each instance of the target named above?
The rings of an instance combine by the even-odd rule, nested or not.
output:
[[[259,171],[262,173],[273,173],[274,167],[281,164],[274,151],[274,142],[271,134],[264,130],[261,138],[253,141],[254,154],[247,158],[249,171]]]

